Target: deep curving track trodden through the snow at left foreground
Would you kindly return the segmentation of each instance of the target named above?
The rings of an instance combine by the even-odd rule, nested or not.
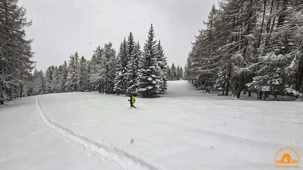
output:
[[[67,129],[63,126],[60,126],[54,122],[52,122],[48,116],[46,116],[44,110],[42,109],[39,97],[37,96],[36,100],[36,107],[39,111],[40,116],[43,119],[43,122],[50,126],[52,129],[58,131],[63,136],[66,136],[82,145],[85,145],[86,147],[89,147],[93,151],[103,155],[106,158],[113,159],[118,162],[119,165],[121,165],[122,168],[125,169],[134,169],[134,170],[159,170],[154,165],[149,164],[148,162],[145,162],[144,160],[136,157],[135,155],[132,155],[131,153],[128,153],[127,151],[113,147],[110,145],[101,144],[98,142],[95,142],[92,139],[88,139],[87,137],[81,136],[79,134],[76,134],[70,129]]]

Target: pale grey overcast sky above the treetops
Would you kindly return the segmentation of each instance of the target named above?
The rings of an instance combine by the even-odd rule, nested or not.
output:
[[[20,0],[32,26],[36,68],[60,65],[76,51],[90,59],[98,45],[119,45],[130,31],[141,47],[150,24],[160,39],[168,64],[184,66],[191,42],[217,0]]]

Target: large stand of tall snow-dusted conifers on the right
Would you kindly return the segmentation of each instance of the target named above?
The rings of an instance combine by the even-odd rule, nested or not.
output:
[[[221,0],[211,8],[188,54],[185,79],[196,87],[239,98],[301,96],[301,0]]]

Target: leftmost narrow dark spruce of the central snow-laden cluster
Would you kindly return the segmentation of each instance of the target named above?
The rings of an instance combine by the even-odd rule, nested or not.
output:
[[[127,44],[126,40],[121,42],[118,56],[117,56],[117,68],[114,79],[114,91],[118,94],[126,94],[127,82],[125,75],[127,74]]]

